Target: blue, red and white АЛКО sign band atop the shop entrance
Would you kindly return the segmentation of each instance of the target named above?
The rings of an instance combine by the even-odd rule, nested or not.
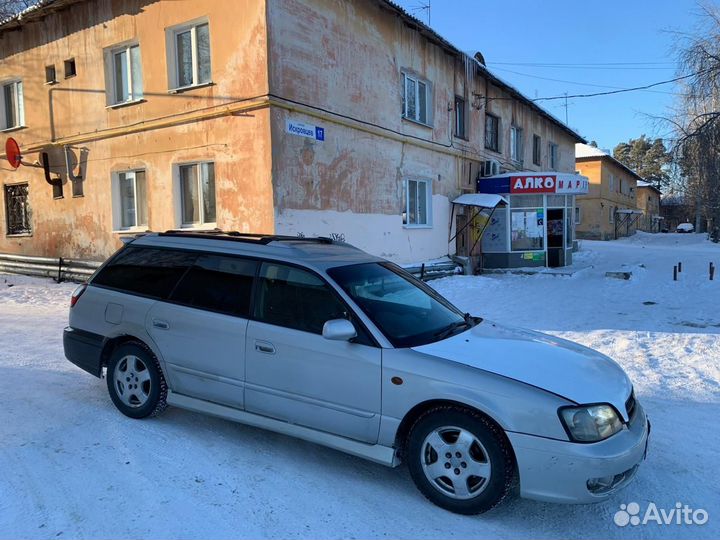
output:
[[[481,193],[510,193],[526,195],[533,193],[556,193],[558,195],[583,195],[588,192],[587,177],[572,174],[535,171],[515,171],[480,178]]]

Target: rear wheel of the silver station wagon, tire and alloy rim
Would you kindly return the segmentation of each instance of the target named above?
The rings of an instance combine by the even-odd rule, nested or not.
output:
[[[167,383],[153,352],[139,341],[113,350],[107,365],[110,398],[130,418],[156,416],[167,407]]]

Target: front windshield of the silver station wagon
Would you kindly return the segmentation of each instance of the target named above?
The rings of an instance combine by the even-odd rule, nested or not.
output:
[[[478,321],[392,263],[340,266],[328,274],[395,347],[439,341]]]

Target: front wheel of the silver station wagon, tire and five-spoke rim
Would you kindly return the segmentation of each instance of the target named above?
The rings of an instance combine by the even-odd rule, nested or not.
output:
[[[500,504],[515,484],[510,443],[482,414],[441,406],[418,418],[405,446],[415,485],[428,500],[458,514]]]

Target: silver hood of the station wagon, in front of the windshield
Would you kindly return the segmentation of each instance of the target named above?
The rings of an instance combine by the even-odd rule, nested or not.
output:
[[[626,415],[632,383],[612,359],[572,341],[483,321],[413,350],[509,377],[580,404],[610,403]]]

